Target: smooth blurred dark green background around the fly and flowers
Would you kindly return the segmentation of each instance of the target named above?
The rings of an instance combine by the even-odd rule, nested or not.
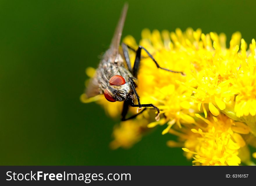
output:
[[[256,1],[131,0],[123,35],[143,28],[255,34]],[[97,67],[124,1],[0,1],[1,165],[191,165],[158,127],[129,150],[110,150],[113,125],[82,104],[85,69]]]

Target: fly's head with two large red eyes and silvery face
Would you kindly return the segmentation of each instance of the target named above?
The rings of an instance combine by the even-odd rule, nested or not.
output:
[[[125,101],[132,98],[130,83],[120,75],[114,75],[109,79],[109,85],[104,90],[106,100],[110,102]]]

